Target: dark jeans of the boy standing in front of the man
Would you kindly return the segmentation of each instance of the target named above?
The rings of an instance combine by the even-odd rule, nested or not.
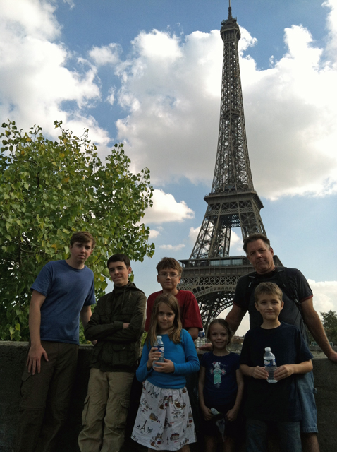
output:
[[[264,422],[247,419],[247,452],[265,452],[267,446],[268,425],[275,424],[278,429],[281,452],[302,452],[300,422]]]

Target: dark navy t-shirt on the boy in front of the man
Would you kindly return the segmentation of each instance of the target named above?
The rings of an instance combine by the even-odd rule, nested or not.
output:
[[[312,359],[298,328],[281,322],[277,328],[258,326],[247,331],[240,355],[240,364],[264,367],[264,349],[271,348],[277,367],[299,364]],[[295,374],[277,383],[248,377],[245,415],[251,419],[295,422],[302,418]]]

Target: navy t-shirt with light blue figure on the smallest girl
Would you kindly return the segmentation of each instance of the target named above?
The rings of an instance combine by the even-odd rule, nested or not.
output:
[[[202,355],[200,365],[205,368],[204,403],[208,408],[235,400],[239,362],[240,356],[232,352],[225,356],[216,356],[212,352]]]

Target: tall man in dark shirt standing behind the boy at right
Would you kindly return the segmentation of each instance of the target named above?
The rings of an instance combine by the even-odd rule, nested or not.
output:
[[[255,272],[243,276],[238,281],[233,307],[228,316],[226,316],[226,321],[228,321],[233,331],[238,329],[247,311],[250,313],[250,328],[259,326],[262,323],[262,316],[260,316],[256,309],[253,309],[254,289],[250,290],[250,284],[257,285],[263,281],[270,281],[271,283],[278,284],[280,287],[282,286],[280,283],[281,278],[277,274],[281,268],[275,266],[273,259],[274,251],[270,246],[269,239],[264,234],[252,234],[247,237],[243,241],[243,249],[250,263],[255,268]],[[287,274],[287,285],[290,286],[290,291],[286,290],[285,287],[281,287],[284,308],[281,311],[280,320],[298,326],[302,335],[306,338],[305,323],[326,357],[333,362],[337,362],[337,353],[332,350],[326,338],[319,315],[314,310],[313,295],[307,280],[295,268],[286,268],[285,271]],[[295,303],[295,298],[298,300],[300,306]],[[306,374],[301,379],[301,383],[302,380],[305,381],[305,379],[309,378],[312,379],[312,382],[306,381],[304,385],[307,388],[311,387],[312,391],[314,391],[312,372]],[[301,392],[303,393],[302,389]],[[314,398],[303,400],[303,403],[305,403],[305,406],[302,405],[302,412],[312,413],[313,417],[311,420],[303,420],[302,422],[302,445],[304,451],[319,452]]]

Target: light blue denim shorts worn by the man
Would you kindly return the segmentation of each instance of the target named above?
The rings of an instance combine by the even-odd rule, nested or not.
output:
[[[317,433],[317,410],[314,400],[314,394],[317,390],[314,388],[314,374],[297,375],[298,398],[302,410],[301,432]]]

